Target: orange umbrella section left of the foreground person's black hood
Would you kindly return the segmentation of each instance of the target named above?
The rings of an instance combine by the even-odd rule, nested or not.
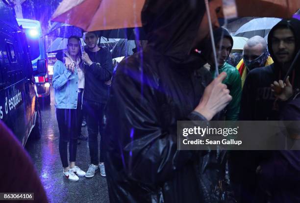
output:
[[[51,20],[85,31],[141,27],[145,0],[63,0]]]

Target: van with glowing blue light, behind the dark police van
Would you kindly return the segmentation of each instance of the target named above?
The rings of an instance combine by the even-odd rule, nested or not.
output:
[[[19,25],[22,25],[23,30],[26,33],[32,68],[33,71],[36,71],[37,61],[39,59],[45,59],[46,62],[48,62],[41,24],[39,21],[20,18],[17,18],[17,22]],[[48,63],[46,66],[48,70]],[[50,104],[50,83],[48,71],[46,76],[35,76],[34,79],[39,98],[42,99],[42,101],[45,101],[46,104]]]

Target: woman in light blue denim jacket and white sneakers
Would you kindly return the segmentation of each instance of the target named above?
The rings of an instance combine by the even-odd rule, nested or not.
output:
[[[78,176],[85,172],[75,165],[79,114],[81,112],[82,61],[80,57],[80,38],[71,36],[68,39],[68,51],[65,53],[65,64],[57,60],[53,67],[53,88],[56,107],[56,118],[59,128],[59,154],[63,165],[63,177],[78,181]],[[68,163],[68,142],[70,165]]]

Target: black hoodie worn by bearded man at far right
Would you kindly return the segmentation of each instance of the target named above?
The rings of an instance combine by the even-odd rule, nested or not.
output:
[[[300,21],[297,19],[282,20],[275,25],[268,36],[268,48],[270,55],[274,60],[274,64],[254,69],[250,71],[245,80],[245,85],[242,93],[241,101],[241,120],[278,120],[278,105],[280,102],[274,102],[275,96],[271,92],[270,85],[276,80],[283,79],[284,75],[281,73],[281,66],[276,62],[275,55],[272,49],[272,36],[276,27],[287,26],[295,35],[296,50],[295,55],[300,49]],[[293,88],[295,93],[299,92],[300,88],[300,59],[297,61],[295,68],[295,78],[290,74],[290,81],[294,80]]]

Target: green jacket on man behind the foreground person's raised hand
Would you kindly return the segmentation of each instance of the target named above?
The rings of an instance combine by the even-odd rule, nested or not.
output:
[[[215,76],[215,70],[210,68],[212,76]],[[219,73],[225,72],[227,77],[223,80],[223,83],[227,85],[230,91],[232,100],[225,108],[225,120],[236,121],[239,119],[240,102],[242,96],[242,81],[238,70],[225,62],[222,67],[219,67]]]

